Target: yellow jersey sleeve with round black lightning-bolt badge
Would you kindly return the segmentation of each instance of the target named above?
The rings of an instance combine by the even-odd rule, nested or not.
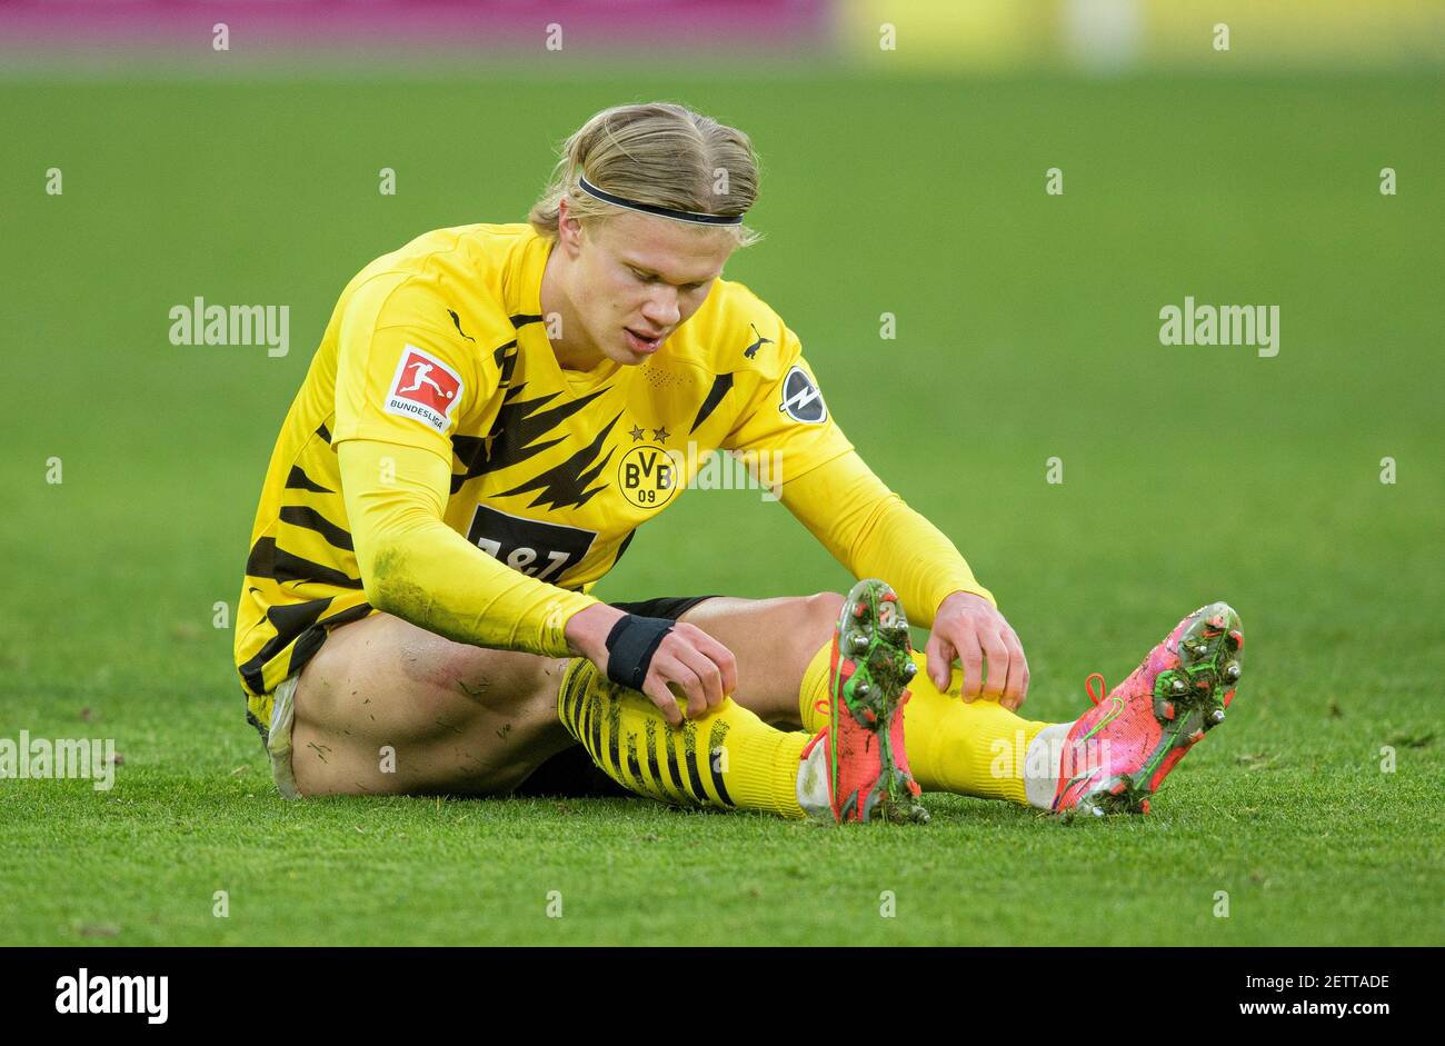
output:
[[[744,379],[754,387],[722,448],[759,455],[772,481],[786,483],[847,454],[853,444],[832,419],[798,335],[776,315],[756,327],[773,341],[759,351],[776,355]]]

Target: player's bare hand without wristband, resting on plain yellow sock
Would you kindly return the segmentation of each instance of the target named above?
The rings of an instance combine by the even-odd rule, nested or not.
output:
[[[948,689],[954,662],[962,662],[964,701],[984,696],[1016,711],[1029,692],[1029,660],[1023,656],[1023,644],[1003,614],[981,595],[954,592],[944,600],[923,653],[928,656],[928,678],[939,691]],[[988,659],[987,679],[984,657]]]

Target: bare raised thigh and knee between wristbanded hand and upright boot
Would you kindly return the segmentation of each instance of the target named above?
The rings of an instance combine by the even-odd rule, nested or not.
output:
[[[798,724],[798,691],[809,662],[832,639],[837,592],[741,600],[720,595],[679,620],[695,624],[737,659],[734,699],[769,722]]]

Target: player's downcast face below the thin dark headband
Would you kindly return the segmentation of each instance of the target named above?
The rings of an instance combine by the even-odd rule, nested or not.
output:
[[[597,350],[639,364],[702,308],[734,250],[722,230],[626,212],[590,225],[574,305]]]

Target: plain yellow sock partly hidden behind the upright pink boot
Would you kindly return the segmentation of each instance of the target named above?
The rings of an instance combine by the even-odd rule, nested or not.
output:
[[[816,702],[828,701],[831,654],[829,640],[803,672],[798,709],[809,731],[828,725],[828,714],[818,711]],[[997,701],[980,698],[965,704],[962,698],[941,693],[928,678],[920,652],[913,652],[913,662],[918,675],[909,683],[913,696],[903,714],[903,744],[919,787],[1026,805],[1025,753],[1049,724],[1014,715]],[[955,669],[949,689],[958,682]]]

